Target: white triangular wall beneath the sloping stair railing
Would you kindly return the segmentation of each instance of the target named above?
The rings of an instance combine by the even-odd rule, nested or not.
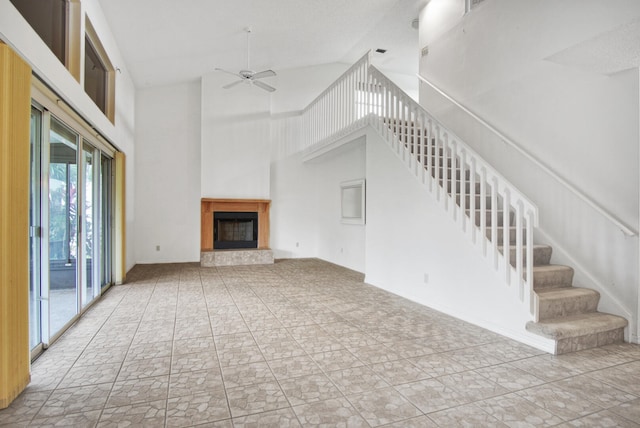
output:
[[[517,287],[473,244],[374,128],[366,130],[365,281],[422,305],[553,353],[526,331],[532,320]],[[389,225],[390,218],[400,218]],[[480,241],[480,240],[478,240]],[[426,275],[426,276],[425,276]],[[426,283],[425,283],[426,280]]]

